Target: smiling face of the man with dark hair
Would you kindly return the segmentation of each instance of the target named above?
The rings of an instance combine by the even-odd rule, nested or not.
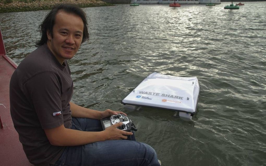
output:
[[[56,14],[53,38],[47,31],[47,46],[61,64],[65,59],[73,58],[80,48],[83,28],[84,24],[79,16],[65,11],[59,11]]]

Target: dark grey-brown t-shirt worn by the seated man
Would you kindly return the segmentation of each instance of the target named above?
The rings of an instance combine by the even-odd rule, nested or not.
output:
[[[36,166],[54,163],[65,147],[49,143],[43,129],[71,127],[73,94],[70,69],[61,65],[47,45],[39,46],[19,64],[10,80],[10,112],[23,150]]]

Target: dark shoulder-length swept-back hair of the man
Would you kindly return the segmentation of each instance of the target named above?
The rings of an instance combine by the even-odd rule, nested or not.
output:
[[[77,5],[63,3],[55,5],[52,10],[45,16],[43,22],[40,24],[39,30],[41,33],[41,39],[40,41],[36,42],[36,47],[47,43],[47,30],[51,33],[51,36],[53,37],[53,25],[55,24],[55,16],[60,10],[80,16],[84,23],[83,37],[81,43],[89,39],[89,32],[87,28],[88,22],[85,12]]]

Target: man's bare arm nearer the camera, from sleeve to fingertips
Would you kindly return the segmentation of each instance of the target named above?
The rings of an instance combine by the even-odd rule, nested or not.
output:
[[[98,132],[67,129],[64,125],[44,129],[44,131],[49,142],[54,146],[78,146],[98,141],[127,139],[127,135],[133,133],[117,129],[122,124],[119,122]]]

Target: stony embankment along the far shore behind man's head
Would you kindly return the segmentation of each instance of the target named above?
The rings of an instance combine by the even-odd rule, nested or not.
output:
[[[0,0],[0,13],[49,10],[59,3],[72,3],[80,7],[113,6],[100,0]]]

